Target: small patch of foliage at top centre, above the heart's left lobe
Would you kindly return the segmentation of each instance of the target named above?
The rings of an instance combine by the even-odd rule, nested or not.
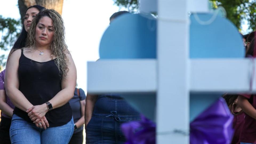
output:
[[[116,4],[119,7],[125,7],[128,9],[129,12],[133,12],[135,10],[138,10],[138,0],[113,0],[114,4]]]

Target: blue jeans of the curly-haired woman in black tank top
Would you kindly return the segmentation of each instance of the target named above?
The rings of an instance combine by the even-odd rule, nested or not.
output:
[[[11,121],[10,138],[13,144],[67,144],[73,131],[73,118],[63,126],[49,127],[44,130],[14,114]]]

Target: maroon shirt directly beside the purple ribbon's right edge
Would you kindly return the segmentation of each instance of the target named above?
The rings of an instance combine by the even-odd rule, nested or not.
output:
[[[241,114],[234,115],[233,119],[233,126],[234,126],[234,136],[232,139],[232,144],[239,144],[239,138],[240,138],[240,133],[244,125],[245,120],[245,113],[242,112]]]

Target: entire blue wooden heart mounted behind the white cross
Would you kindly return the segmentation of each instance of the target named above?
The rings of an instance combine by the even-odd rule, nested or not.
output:
[[[201,21],[213,14],[197,14]],[[190,58],[242,58],[242,38],[235,26],[217,16],[209,25],[201,25],[190,17]],[[101,59],[156,58],[156,21],[139,14],[124,14],[115,19],[102,36]],[[145,96],[145,95],[143,95]],[[154,119],[155,95],[149,99],[125,96],[137,110]],[[209,107],[221,94],[191,94],[190,121]],[[140,97],[140,98],[138,98]]]

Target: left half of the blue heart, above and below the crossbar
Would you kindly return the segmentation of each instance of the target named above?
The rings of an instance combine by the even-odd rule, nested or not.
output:
[[[156,58],[157,23],[151,15],[123,14],[114,19],[102,36],[100,59]],[[155,120],[155,93],[122,94],[135,109]]]

